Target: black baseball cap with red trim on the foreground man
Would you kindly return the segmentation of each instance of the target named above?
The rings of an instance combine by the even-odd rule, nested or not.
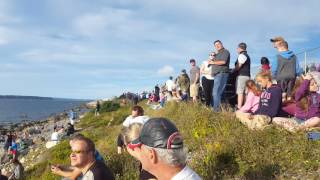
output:
[[[183,148],[183,139],[177,127],[166,118],[151,118],[142,127],[140,136],[128,144],[134,149],[142,144],[162,149]]]

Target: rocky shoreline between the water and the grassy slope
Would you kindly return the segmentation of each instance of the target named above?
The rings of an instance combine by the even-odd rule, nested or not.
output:
[[[80,121],[85,113],[89,111],[89,108],[90,106],[88,106],[88,104],[74,108],[74,112],[78,114],[76,122]],[[45,144],[48,140],[50,140],[54,127],[57,126],[65,128],[69,122],[68,113],[65,111],[55,116],[48,117],[44,120],[1,125],[1,143],[4,145],[4,133],[9,131],[15,132],[18,142],[21,142],[22,140],[27,141],[27,148],[19,150],[18,154],[18,159],[24,166],[25,171],[27,171],[35,164],[45,160],[45,151],[47,150]],[[4,152],[3,147],[1,147],[0,156],[6,156],[6,152]],[[1,158],[0,165],[2,172],[10,172],[13,168],[12,163],[3,163],[2,160],[3,158]]]

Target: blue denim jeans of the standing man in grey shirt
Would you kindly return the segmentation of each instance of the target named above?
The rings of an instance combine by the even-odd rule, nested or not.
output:
[[[221,96],[227,85],[229,74],[228,73],[219,73],[214,76],[213,83],[213,109],[215,111],[220,110]]]

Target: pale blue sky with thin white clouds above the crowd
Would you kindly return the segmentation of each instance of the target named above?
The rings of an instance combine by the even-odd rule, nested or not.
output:
[[[248,45],[253,70],[290,50],[320,46],[320,1],[1,0],[0,94],[76,99],[151,90],[208,58],[221,40],[236,59]],[[299,55],[303,61],[304,56]],[[308,53],[320,62],[320,50]]]

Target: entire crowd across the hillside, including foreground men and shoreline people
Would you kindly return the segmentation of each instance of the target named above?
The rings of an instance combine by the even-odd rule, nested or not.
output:
[[[238,44],[234,69],[230,69],[230,52],[220,40],[214,42],[215,51],[200,67],[190,59],[190,71],[183,69],[176,78],[172,76],[150,94],[126,93],[123,96],[134,105],[131,115],[122,123],[117,138],[118,154],[128,153],[140,167],[139,178],[199,180],[201,177],[187,165],[186,146],[175,124],[166,118],[149,118],[139,99],[147,98],[147,104],[155,109],[163,108],[169,101],[203,103],[215,112],[221,111],[223,93],[230,74],[236,76],[234,92],[237,95],[235,116],[250,129],[261,130],[270,124],[289,131],[307,130],[320,126],[320,65],[304,72],[297,56],[289,50],[282,37],[272,38],[278,53],[269,60],[261,58],[261,68],[251,76],[251,63],[247,44]],[[101,105],[96,104],[95,116],[100,115]],[[69,115],[70,133],[74,133],[74,114]],[[69,128],[68,128],[69,129]],[[61,128],[54,128],[51,141],[55,145],[61,139]],[[10,136],[11,137],[11,136]],[[12,154],[15,170],[6,177],[21,176],[23,167],[17,159],[14,136],[5,148]],[[77,134],[70,138],[70,165],[51,165],[52,173],[68,179],[115,179],[92,140]]]

